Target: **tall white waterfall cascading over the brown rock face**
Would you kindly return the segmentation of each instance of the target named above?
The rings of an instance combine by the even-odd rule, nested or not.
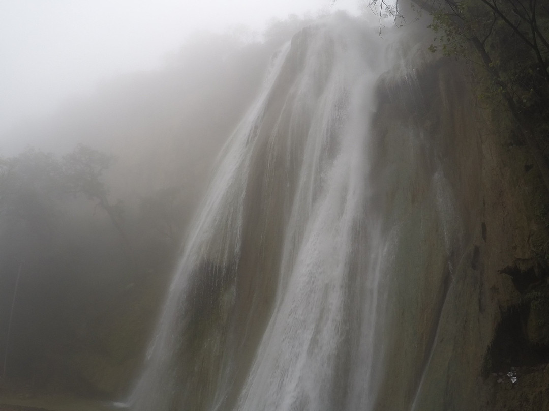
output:
[[[372,131],[380,76],[414,81],[399,54],[410,47],[377,30],[336,15],[273,58],[187,238],[132,409],[411,406],[433,338],[394,338],[408,315],[401,279],[432,237],[435,263],[422,267],[443,273],[432,285],[443,299],[457,230],[425,138]],[[417,355],[391,351],[408,343]],[[402,407],[377,408],[390,403],[380,390],[405,392]]]

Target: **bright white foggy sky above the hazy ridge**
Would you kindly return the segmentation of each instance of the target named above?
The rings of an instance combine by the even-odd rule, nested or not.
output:
[[[51,115],[101,79],[158,68],[197,30],[321,9],[357,12],[360,0],[0,0],[0,153],[8,130]]]

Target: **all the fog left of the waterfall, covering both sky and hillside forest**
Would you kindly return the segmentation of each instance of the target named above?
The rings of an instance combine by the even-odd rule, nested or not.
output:
[[[0,388],[127,388],[273,55],[358,4],[0,3]],[[107,374],[116,384],[95,379]]]

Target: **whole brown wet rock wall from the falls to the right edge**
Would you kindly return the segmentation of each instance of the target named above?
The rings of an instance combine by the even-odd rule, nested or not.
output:
[[[400,163],[406,162],[407,153],[425,156],[422,168],[408,166],[410,181],[402,186],[412,188],[399,202],[407,202],[409,210],[436,212],[425,202],[431,189],[425,183],[438,173],[450,187],[454,237],[447,242],[451,246],[446,262],[423,266],[422,277],[413,276],[421,251],[410,247],[402,254],[406,264],[391,292],[404,297],[389,308],[394,318],[391,332],[401,338],[390,348],[396,354],[384,370],[378,408],[549,409],[545,388],[536,385],[537,379],[546,381],[549,361],[544,251],[549,236],[540,220],[547,195],[533,188],[539,186],[539,176],[524,167],[531,164],[528,153],[510,147],[508,130],[475,110],[470,83],[458,73],[455,65],[438,61],[414,71],[409,79],[379,87],[374,131],[385,153],[399,153],[408,143],[399,138],[391,145],[391,135],[400,127],[415,139],[400,155]],[[420,213],[409,212],[407,225],[418,216],[421,221]],[[428,227],[425,221],[418,224],[416,234],[425,230],[430,241],[448,240],[439,235],[449,225]],[[436,247],[436,241],[428,247],[431,256]],[[444,264],[451,272],[447,290],[433,286],[441,284]],[[430,288],[422,283],[425,279]],[[426,309],[421,304],[425,294],[440,299]],[[430,311],[433,307],[438,307],[436,315]],[[421,336],[430,332],[436,338],[425,344]],[[413,356],[421,360],[411,362]],[[395,395],[402,387],[405,391]],[[395,403],[403,397],[408,402]],[[500,397],[507,401],[503,408]]]

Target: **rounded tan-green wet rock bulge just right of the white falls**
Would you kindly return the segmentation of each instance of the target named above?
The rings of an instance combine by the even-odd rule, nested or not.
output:
[[[482,215],[477,125],[454,70],[439,60],[379,87],[378,153],[406,170],[388,196],[406,223],[394,257],[401,274],[390,286],[401,297],[391,300],[388,334],[400,337],[388,337],[378,409],[478,409],[479,346],[487,342],[475,328],[484,326],[481,311],[482,321],[494,315],[483,286],[491,228]]]

